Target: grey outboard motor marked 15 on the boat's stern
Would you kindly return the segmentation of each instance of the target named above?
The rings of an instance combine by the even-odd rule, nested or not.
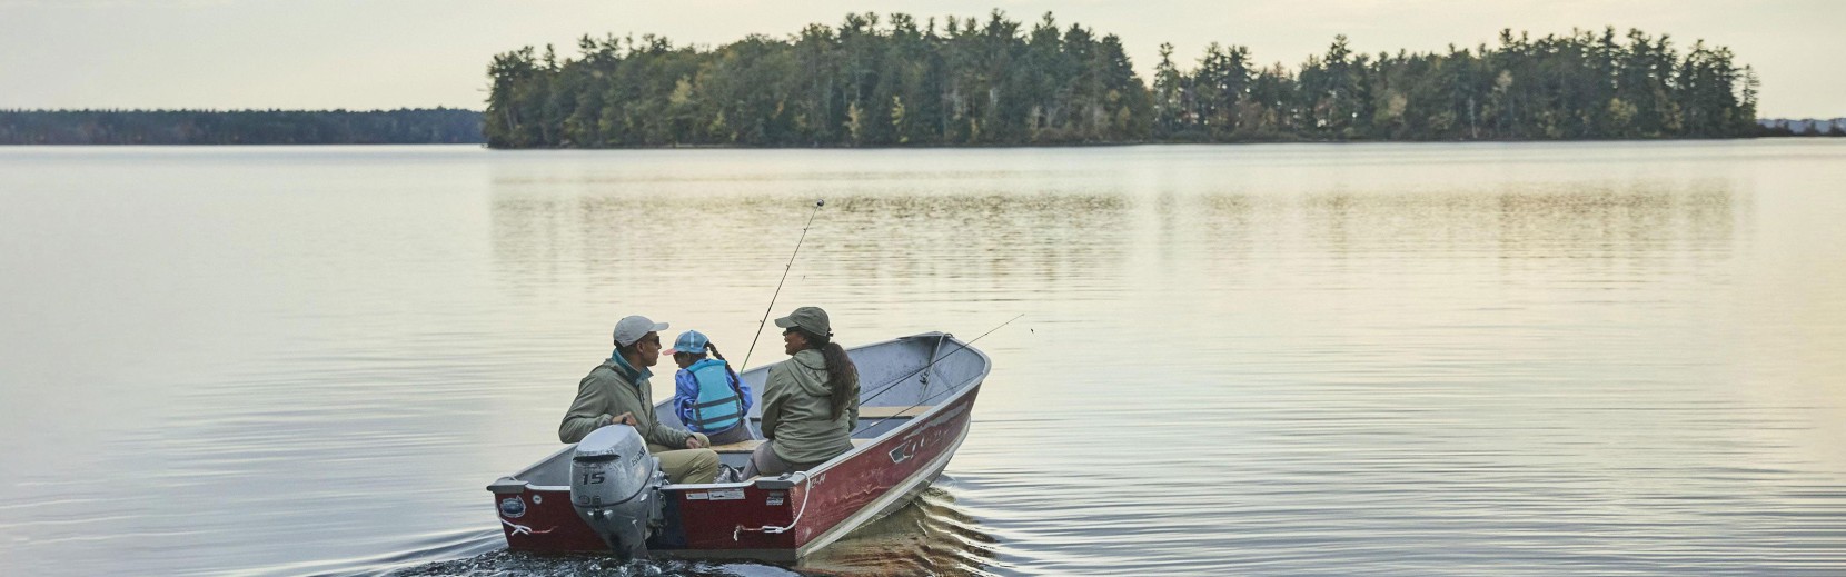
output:
[[[648,557],[665,483],[661,459],[626,424],[591,431],[570,457],[570,505],[622,560]]]

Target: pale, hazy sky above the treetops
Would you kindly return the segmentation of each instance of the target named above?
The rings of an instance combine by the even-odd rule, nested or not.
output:
[[[1730,46],[1763,79],[1761,116],[1846,116],[1842,0],[0,0],[0,109],[482,109],[487,61],[526,44],[657,33],[716,46],[786,37],[849,11],[986,17],[1052,11],[1115,33],[1143,79],[1161,42],[1298,66],[1346,33],[1355,52],[1445,50],[1571,28],[1641,28]]]

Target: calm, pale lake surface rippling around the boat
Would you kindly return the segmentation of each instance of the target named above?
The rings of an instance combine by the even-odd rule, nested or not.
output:
[[[1840,575],[1842,183],[1846,138],[4,147],[0,573],[607,570],[484,487],[622,315],[740,359],[825,197],[777,315],[1023,317],[936,489],[792,570]]]

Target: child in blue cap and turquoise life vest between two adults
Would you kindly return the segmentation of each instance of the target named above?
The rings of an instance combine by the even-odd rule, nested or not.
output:
[[[731,371],[731,363],[724,361],[724,354],[705,334],[687,330],[665,352],[679,365],[674,374],[674,413],[687,430],[705,433],[711,444],[755,439],[749,433],[749,385],[737,378],[737,371]]]

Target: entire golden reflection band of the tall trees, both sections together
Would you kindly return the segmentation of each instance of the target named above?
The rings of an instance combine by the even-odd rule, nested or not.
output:
[[[1169,194],[973,192],[866,194],[829,199],[803,240],[797,273],[849,293],[881,278],[945,299],[1084,299],[1154,267],[1253,254],[1337,260],[1434,254],[1510,260],[1728,258],[1737,210],[1726,183],[1576,184],[1510,190]],[[506,277],[620,277],[694,256],[724,275],[714,288],[775,278],[812,216],[812,201],[775,195],[672,197],[500,194],[495,254]],[[1145,271],[1141,271],[1145,273]],[[799,278],[799,277],[797,277]]]

